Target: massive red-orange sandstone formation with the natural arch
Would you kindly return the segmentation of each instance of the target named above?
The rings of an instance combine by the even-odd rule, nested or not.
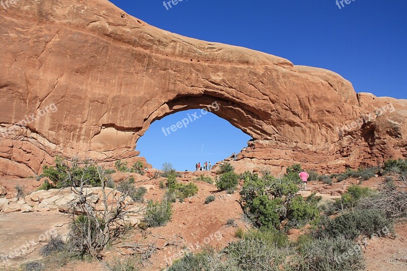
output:
[[[2,175],[37,174],[56,155],[142,160],[152,122],[204,107],[253,138],[239,156],[248,167],[407,155],[407,101],[357,95],[331,71],[172,34],[103,0],[19,0],[0,17]]]

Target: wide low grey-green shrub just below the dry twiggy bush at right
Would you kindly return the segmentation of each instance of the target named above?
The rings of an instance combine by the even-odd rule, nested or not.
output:
[[[365,209],[352,210],[335,219],[324,218],[313,235],[319,239],[338,236],[356,239],[384,231],[393,231],[393,221],[379,210]]]

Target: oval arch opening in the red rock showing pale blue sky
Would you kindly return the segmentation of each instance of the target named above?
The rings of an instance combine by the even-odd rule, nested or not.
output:
[[[194,114],[198,118],[194,119]],[[168,162],[178,171],[193,171],[198,162],[202,167],[205,162],[213,166],[232,153],[238,154],[251,139],[214,113],[199,116],[199,109],[191,109],[155,121],[138,139],[136,150],[154,168],[161,169]],[[192,122],[184,125],[186,118]]]

